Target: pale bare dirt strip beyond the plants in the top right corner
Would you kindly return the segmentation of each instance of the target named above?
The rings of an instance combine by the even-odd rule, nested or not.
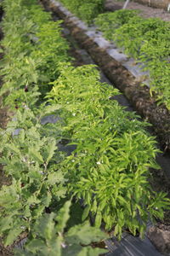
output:
[[[125,1],[106,0],[105,9],[108,11],[114,11],[116,9],[122,9]],[[141,10],[141,16],[144,18],[161,18],[161,20],[170,21],[170,12],[164,9],[156,9],[143,4],[130,2],[127,4],[127,9],[139,9]]]

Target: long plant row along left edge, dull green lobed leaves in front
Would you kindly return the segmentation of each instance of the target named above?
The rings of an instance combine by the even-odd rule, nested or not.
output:
[[[37,1],[4,0],[3,9],[1,94],[14,112],[6,130],[1,130],[1,163],[10,178],[0,190],[4,245],[27,236],[25,251],[15,249],[17,256],[99,255],[103,250],[81,244],[99,241],[105,233],[88,222],[67,224],[75,216],[71,217],[68,180],[60,164],[65,154],[57,148],[62,122],[42,125],[41,121],[58,109],[43,100],[51,88],[48,83],[59,77],[62,62],[71,59],[60,22],[50,20]]]

